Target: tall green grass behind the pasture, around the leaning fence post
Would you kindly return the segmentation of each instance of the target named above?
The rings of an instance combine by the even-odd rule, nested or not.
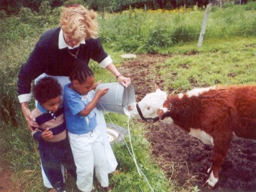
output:
[[[197,41],[203,19],[204,11],[191,8],[150,13],[129,10],[100,20],[100,36],[116,50],[157,52]],[[229,4],[227,8],[212,6],[204,37],[255,36],[255,22],[255,2],[244,6]]]

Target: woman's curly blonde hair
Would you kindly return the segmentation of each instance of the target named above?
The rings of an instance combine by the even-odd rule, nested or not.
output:
[[[81,4],[64,8],[60,17],[60,26],[68,37],[76,40],[98,37],[97,13],[87,10]]]

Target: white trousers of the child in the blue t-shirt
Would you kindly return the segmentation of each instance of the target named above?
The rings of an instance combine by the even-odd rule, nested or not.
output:
[[[99,129],[86,134],[68,132],[70,146],[76,163],[77,188],[92,191],[93,170],[102,187],[108,187],[108,166],[104,141]]]

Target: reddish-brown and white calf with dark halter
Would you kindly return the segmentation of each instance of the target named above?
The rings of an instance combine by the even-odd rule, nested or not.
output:
[[[211,173],[218,182],[221,164],[234,138],[256,140],[256,85],[212,86],[168,95],[156,86],[129,106],[131,117],[173,122],[202,142],[213,145]]]

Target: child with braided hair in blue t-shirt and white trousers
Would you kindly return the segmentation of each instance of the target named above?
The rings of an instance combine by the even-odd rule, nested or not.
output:
[[[94,95],[92,70],[83,61],[77,60],[76,68],[69,78],[71,83],[64,87],[64,113],[67,121],[68,138],[77,167],[77,188],[84,192],[93,189],[93,170],[100,183],[99,188],[108,191],[108,167],[104,141],[97,129],[93,108],[108,88],[99,89]]]

